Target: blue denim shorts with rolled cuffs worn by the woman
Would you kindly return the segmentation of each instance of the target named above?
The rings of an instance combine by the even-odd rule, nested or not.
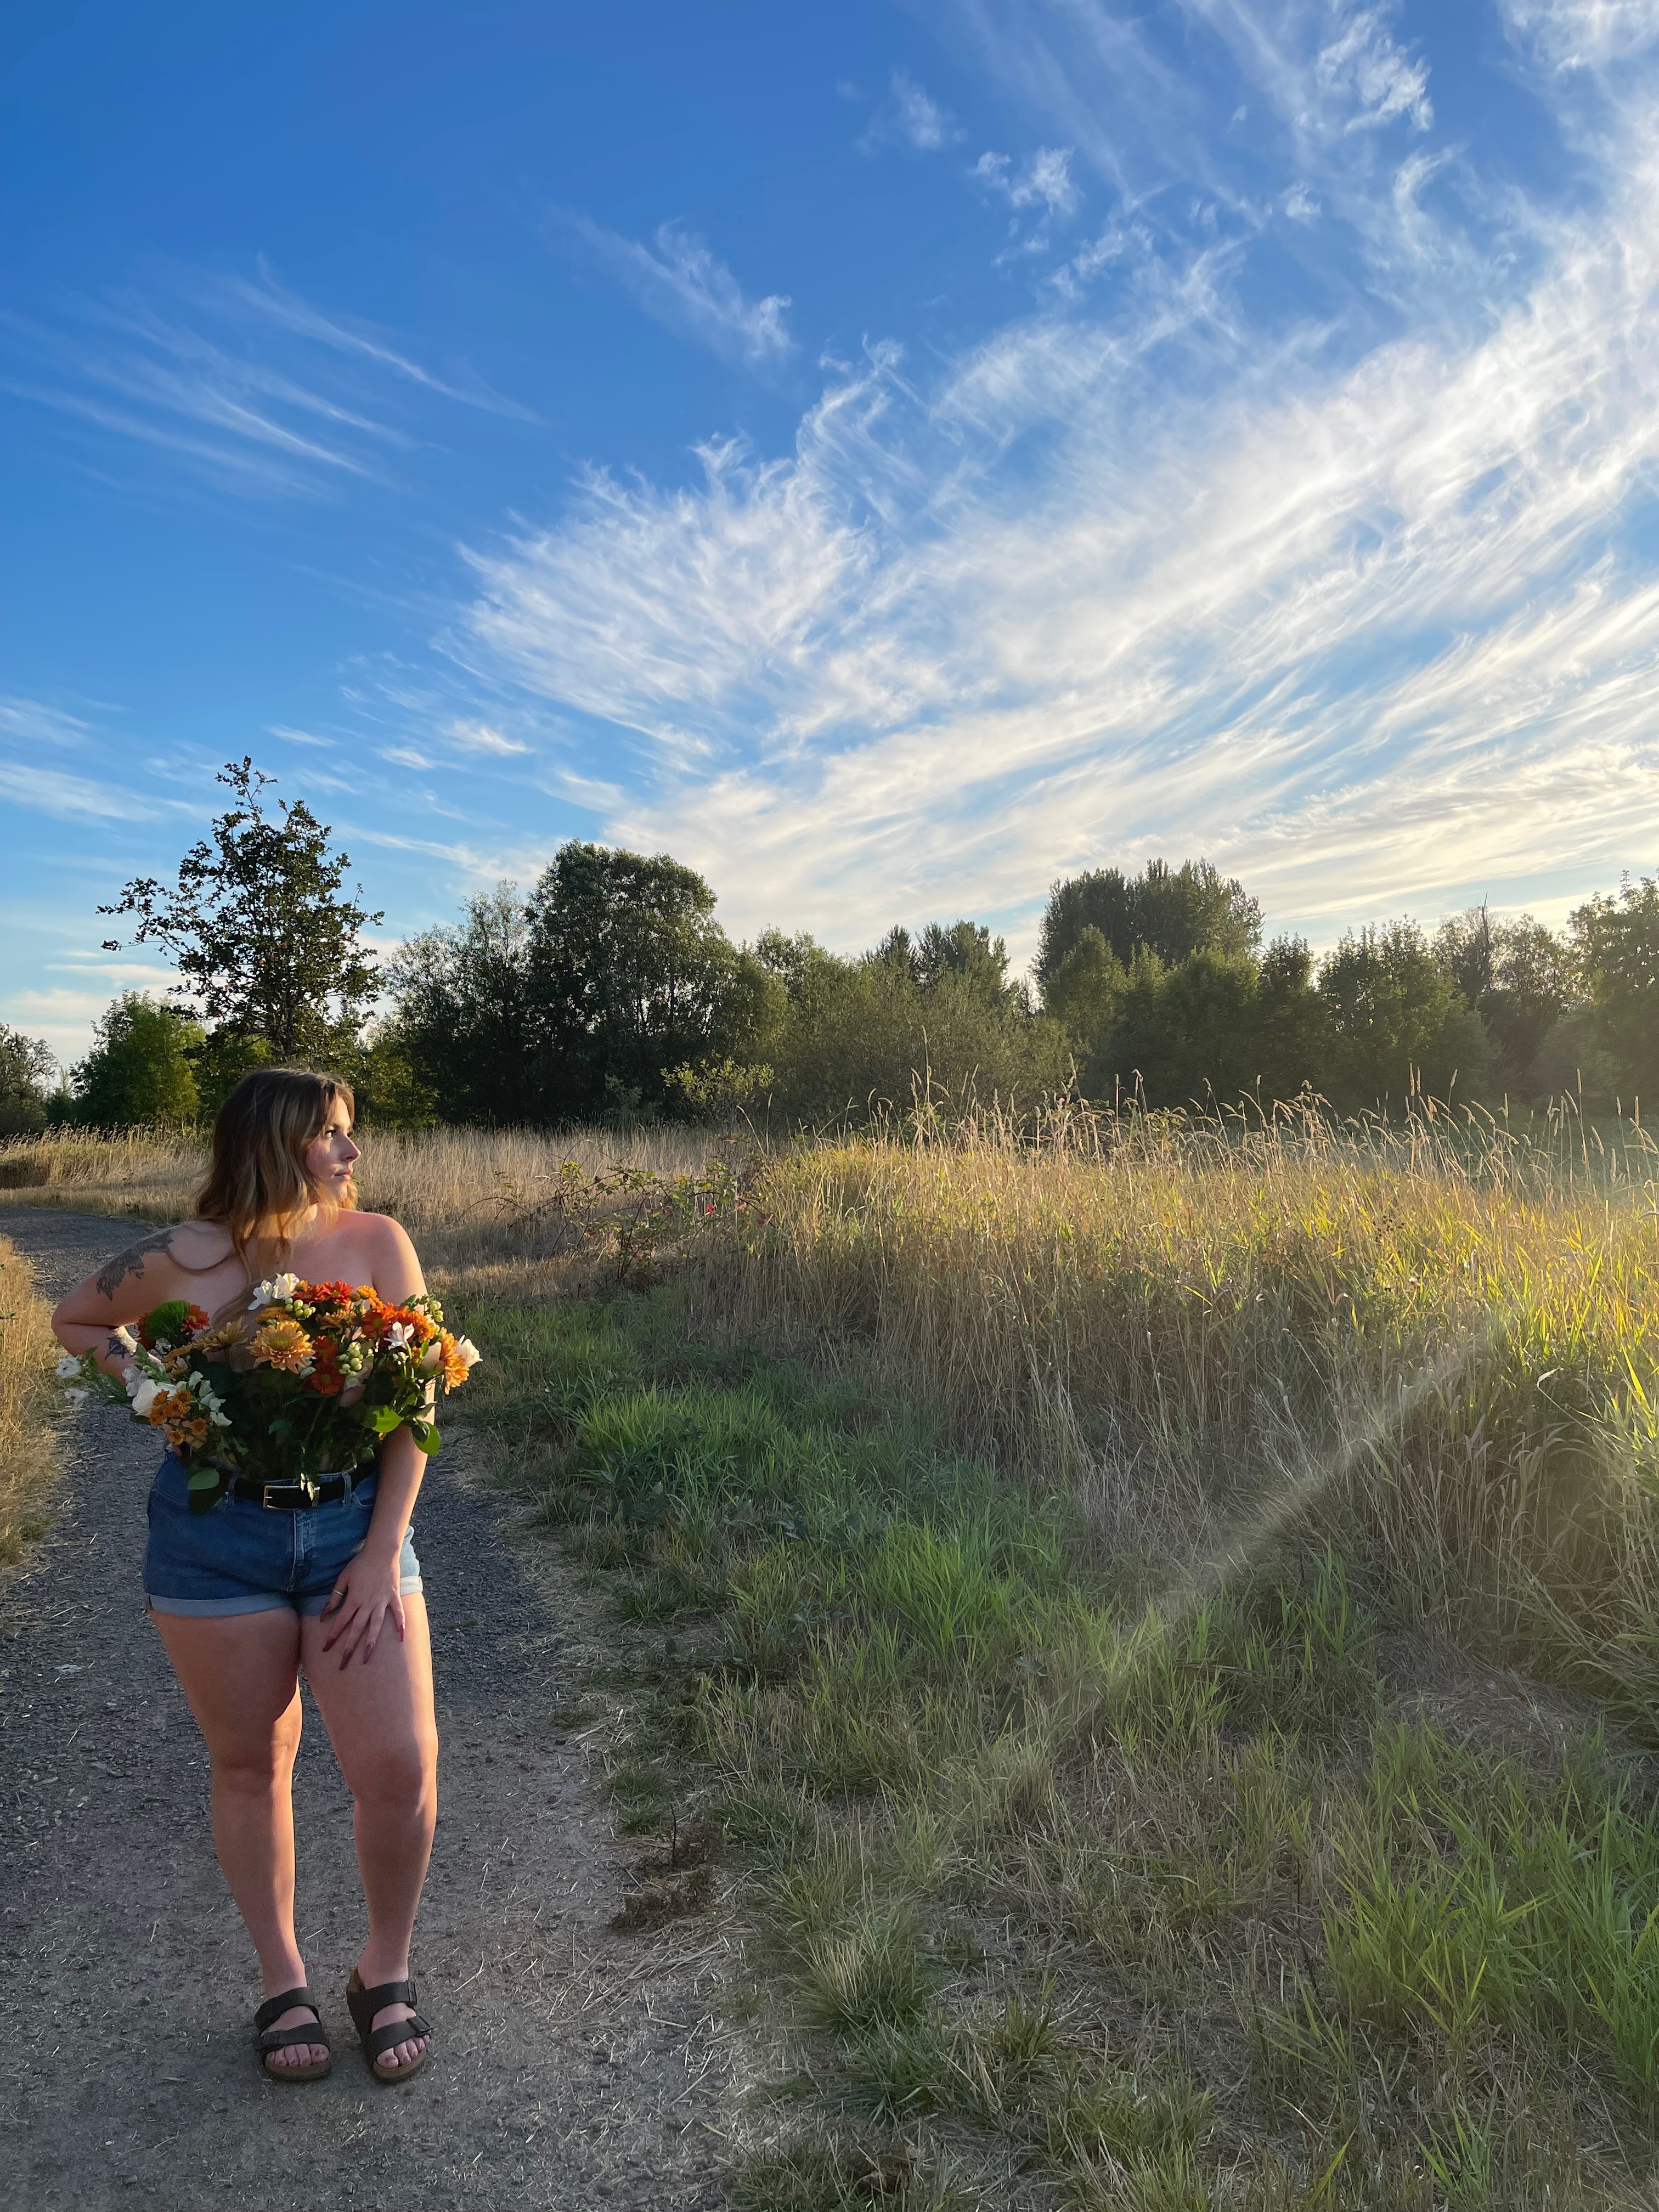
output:
[[[168,1453],[150,1484],[150,1542],[144,1548],[144,1597],[150,1613],[294,1613],[316,1615],[341,1568],[369,1533],[378,1475],[349,1498],[301,1513],[221,1498],[210,1513],[190,1511],[190,1484]],[[398,1588],[420,1588],[420,1562],[403,1535]]]

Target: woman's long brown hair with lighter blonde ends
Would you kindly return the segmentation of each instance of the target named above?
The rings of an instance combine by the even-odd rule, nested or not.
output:
[[[352,1086],[312,1068],[252,1068],[212,1124],[208,1179],[197,1192],[197,1221],[230,1230],[237,1259],[254,1276],[265,1259],[285,1259],[294,1230],[312,1206],[341,1212],[356,1203],[325,1197],[305,1172],[305,1148],[323,1135],[334,1106],[356,1113]],[[259,1252],[270,1245],[272,1252]],[[254,1252],[254,1263],[248,1254]]]

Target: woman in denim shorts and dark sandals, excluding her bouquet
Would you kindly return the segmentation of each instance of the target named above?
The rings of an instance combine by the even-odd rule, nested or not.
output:
[[[385,1214],[356,1212],[352,1093],[332,1075],[243,1075],[212,1130],[197,1210],[146,1237],[53,1314],[60,1343],[119,1374],[115,1334],[166,1298],[219,1316],[276,1267],[305,1281],[372,1283],[403,1303],[425,1290],[414,1245]],[[330,2042],[294,1944],[299,1672],[312,1686],[354,1798],[369,1936],[347,2006],[378,2081],[427,2062],[409,1936],[438,1809],[431,1644],[409,1513],[425,1455],[394,1431],[367,1471],[330,1478],[316,1504],[294,1486],[239,1482],[188,1511],[173,1453],[150,1489],[144,1595],[212,1756],[212,1840],[254,1940],[265,2004],[254,2015],[272,2081],[316,2081]]]

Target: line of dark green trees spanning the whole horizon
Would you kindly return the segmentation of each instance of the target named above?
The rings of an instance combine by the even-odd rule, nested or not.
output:
[[[252,761],[170,883],[100,911],[157,945],[170,1000],[124,993],[66,1082],[0,1029],[0,1133],[190,1124],[261,1062],[341,1068],[387,1124],[732,1117],[825,1126],[940,1102],[1066,1091],[1148,1106],[1316,1093],[1402,1110],[1413,1091],[1630,1110],[1659,1091],[1659,876],[1588,898],[1564,931],[1484,909],[1349,931],[1323,958],[1263,945],[1261,905],[1208,860],[1053,885],[1031,978],[973,920],[891,929],[860,956],[805,931],[734,942],[668,854],[571,841],[529,894],[376,960],[349,858]],[[106,949],[124,940],[111,938]]]

